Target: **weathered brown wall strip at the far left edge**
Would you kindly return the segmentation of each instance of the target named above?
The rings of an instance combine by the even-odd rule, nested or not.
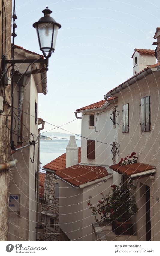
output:
[[[2,1],[0,1],[0,56],[4,55],[5,53],[11,56],[11,17],[12,17],[12,1],[4,0],[5,6],[5,13],[4,8],[2,10]],[[2,13],[4,15],[4,22],[2,22]],[[6,19],[6,24],[5,24]],[[3,23],[3,25],[2,25]],[[5,40],[6,37],[6,40]],[[5,50],[6,47],[6,50]],[[2,59],[1,59],[2,63]],[[1,74],[3,77],[3,68],[2,64],[0,63],[1,67]],[[3,82],[1,78],[1,86],[3,88]],[[10,85],[5,88],[5,99],[10,103]],[[4,97],[4,94],[3,94]],[[4,104],[4,111],[3,115],[9,114],[9,107],[7,104]],[[9,131],[6,127],[5,121],[6,116],[0,115],[0,163],[9,162]],[[1,171],[0,173],[0,241],[7,241],[8,240],[8,186],[9,186],[9,170]]]

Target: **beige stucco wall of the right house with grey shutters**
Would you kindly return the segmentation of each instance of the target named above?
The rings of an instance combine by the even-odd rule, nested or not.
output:
[[[118,96],[119,120],[122,120],[122,105],[129,103],[129,132],[122,133],[122,127],[119,130],[119,160],[131,152],[135,151],[138,156],[138,162],[151,164],[156,167],[155,180],[153,183],[154,198],[152,198],[152,189],[150,189],[151,202],[151,231],[152,240],[160,240],[160,231],[158,221],[160,220],[158,211],[160,203],[156,201],[156,197],[160,197],[160,168],[159,168],[159,73],[149,75],[146,79],[139,81],[138,84],[132,85],[122,91],[122,95]],[[151,101],[151,131],[142,132],[140,125],[141,98],[150,95]],[[120,121],[119,121],[120,122]],[[151,186],[151,179],[139,179],[138,183],[145,183]],[[143,191],[140,184],[137,183],[137,206],[139,211],[136,216],[135,228],[138,232],[140,240],[145,240],[146,226],[143,226],[144,203]],[[153,200],[153,202],[152,202]],[[152,205],[154,204],[154,207]],[[154,235],[154,238],[153,238]]]

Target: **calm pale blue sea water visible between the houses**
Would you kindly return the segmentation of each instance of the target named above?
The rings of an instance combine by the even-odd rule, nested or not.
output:
[[[68,141],[64,139],[40,140],[40,161],[42,166],[65,153]],[[76,143],[78,147],[81,147],[81,140],[76,140]]]

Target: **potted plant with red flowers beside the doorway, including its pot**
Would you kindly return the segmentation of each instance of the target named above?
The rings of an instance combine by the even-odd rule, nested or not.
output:
[[[127,179],[123,185],[112,185],[108,195],[102,192],[102,199],[98,201],[97,207],[93,207],[91,201],[88,206],[95,215],[95,222],[98,221],[97,215],[101,216],[103,222],[112,223],[112,230],[116,235],[133,234],[133,223],[131,217],[137,212],[136,203],[132,191],[135,190],[133,181]]]

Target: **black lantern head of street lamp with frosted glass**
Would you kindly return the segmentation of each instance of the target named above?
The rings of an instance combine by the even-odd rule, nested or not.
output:
[[[47,56],[45,52],[48,52],[48,57],[50,57],[55,50],[57,33],[61,25],[50,17],[52,11],[48,9],[48,6],[42,12],[44,13],[44,17],[35,22],[33,27],[37,30],[40,50],[45,57]]]

